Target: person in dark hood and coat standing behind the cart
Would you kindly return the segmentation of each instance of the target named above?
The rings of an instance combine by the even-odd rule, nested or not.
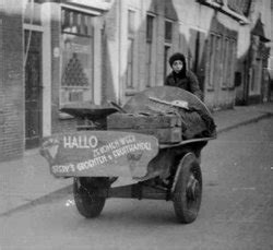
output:
[[[174,53],[169,58],[169,66],[173,71],[167,75],[165,80],[165,85],[176,86],[188,92],[191,92],[200,99],[202,99],[202,92],[199,87],[199,82],[194,73],[187,70],[186,58],[182,53]]]

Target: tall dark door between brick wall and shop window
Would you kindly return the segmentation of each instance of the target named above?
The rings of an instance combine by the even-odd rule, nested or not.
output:
[[[41,33],[25,31],[25,147],[41,138]]]

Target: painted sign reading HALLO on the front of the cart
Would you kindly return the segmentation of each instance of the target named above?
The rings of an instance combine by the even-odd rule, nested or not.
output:
[[[143,177],[158,153],[152,135],[118,131],[79,131],[44,140],[40,154],[56,177]]]

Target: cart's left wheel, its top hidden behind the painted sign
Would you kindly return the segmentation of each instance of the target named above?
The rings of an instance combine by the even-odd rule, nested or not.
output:
[[[105,178],[74,178],[73,194],[78,211],[86,218],[98,216],[105,205],[106,198],[94,194],[99,188],[107,187]]]

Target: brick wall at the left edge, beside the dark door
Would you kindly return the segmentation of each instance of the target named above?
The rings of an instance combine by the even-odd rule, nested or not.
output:
[[[0,160],[20,157],[24,151],[21,4],[5,0],[0,5]]]

